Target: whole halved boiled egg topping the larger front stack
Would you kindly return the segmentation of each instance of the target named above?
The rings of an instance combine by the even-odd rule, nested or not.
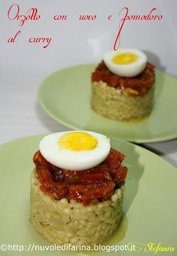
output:
[[[51,164],[68,170],[86,170],[102,163],[109,155],[109,139],[96,132],[67,131],[45,136],[40,152]]]

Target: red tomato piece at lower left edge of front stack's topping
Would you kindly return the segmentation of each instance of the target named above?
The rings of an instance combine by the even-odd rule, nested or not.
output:
[[[43,184],[40,189],[43,193],[54,196],[56,199],[61,199],[68,193],[68,188],[65,185],[58,184],[58,182]]]

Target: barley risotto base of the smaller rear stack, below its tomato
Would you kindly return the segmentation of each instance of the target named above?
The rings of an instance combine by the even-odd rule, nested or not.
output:
[[[151,113],[154,87],[143,96],[132,97],[126,91],[102,81],[92,84],[91,106],[96,113],[114,120],[133,120]]]

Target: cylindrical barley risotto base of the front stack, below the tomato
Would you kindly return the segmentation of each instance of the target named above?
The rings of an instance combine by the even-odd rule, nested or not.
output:
[[[121,220],[124,185],[111,200],[82,205],[76,200],[56,200],[40,190],[36,169],[31,173],[31,216],[36,231],[52,244],[98,244],[110,236]]]

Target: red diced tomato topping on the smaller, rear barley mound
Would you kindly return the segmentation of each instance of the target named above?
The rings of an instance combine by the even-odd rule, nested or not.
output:
[[[119,88],[120,90],[126,90],[130,88],[137,92],[134,93],[131,90],[127,90],[128,94],[132,96],[144,96],[146,92],[153,86],[155,81],[155,66],[151,63],[147,63],[141,74],[135,77],[121,77],[113,74],[102,61],[98,67],[96,67],[95,72],[92,73],[92,82],[103,81],[107,83],[108,86]]]

